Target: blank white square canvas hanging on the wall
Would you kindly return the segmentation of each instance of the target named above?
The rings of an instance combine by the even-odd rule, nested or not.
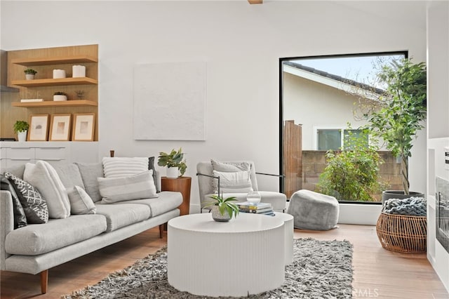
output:
[[[135,140],[206,140],[206,62],[134,67]]]

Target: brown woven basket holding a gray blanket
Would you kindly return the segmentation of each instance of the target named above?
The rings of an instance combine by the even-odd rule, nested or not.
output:
[[[376,225],[380,244],[389,251],[425,253],[427,217],[380,213]]]

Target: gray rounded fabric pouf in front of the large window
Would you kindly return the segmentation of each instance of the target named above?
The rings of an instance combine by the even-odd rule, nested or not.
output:
[[[330,230],[337,226],[340,206],[335,197],[300,190],[290,198],[287,213],[293,215],[295,228],[303,230]]]

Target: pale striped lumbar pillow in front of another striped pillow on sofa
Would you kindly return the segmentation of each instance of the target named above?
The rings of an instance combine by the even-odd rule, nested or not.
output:
[[[158,197],[152,171],[122,178],[98,178],[102,204]]]

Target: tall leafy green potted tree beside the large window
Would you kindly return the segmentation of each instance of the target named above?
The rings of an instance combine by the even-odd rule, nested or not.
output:
[[[401,159],[403,194],[410,194],[408,158],[427,116],[427,69],[424,62],[394,60],[377,73],[384,84],[380,108],[368,116],[368,129],[382,138],[387,150]]]

